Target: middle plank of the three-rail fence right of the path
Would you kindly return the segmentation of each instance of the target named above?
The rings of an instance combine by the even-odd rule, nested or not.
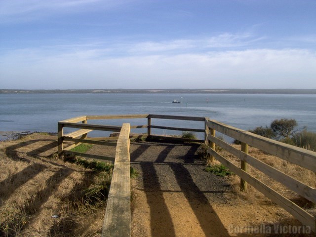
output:
[[[306,199],[316,203],[316,189],[312,188],[294,178],[291,176],[284,174],[283,172],[277,170],[276,168],[266,164],[265,162],[254,158],[250,155],[247,155],[235,147],[232,147],[230,144],[212,136],[208,136],[208,139],[216,143],[221,148],[225,149],[226,151],[230,152],[237,158],[246,161],[248,164],[253,166],[254,168],[257,168],[264,174],[270,176],[277,182],[283,184],[290,190],[296,192],[297,194],[301,195],[302,197],[305,197]]]

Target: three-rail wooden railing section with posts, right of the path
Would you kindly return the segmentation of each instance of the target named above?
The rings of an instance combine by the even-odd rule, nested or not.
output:
[[[316,218],[306,210],[292,202],[281,194],[277,193],[271,187],[267,186],[257,178],[247,173],[247,164],[258,169],[272,179],[283,184],[288,189],[296,192],[302,197],[316,203],[316,189],[310,187],[295,178],[277,170],[276,168],[248,155],[248,145],[258,148],[264,152],[284,159],[291,163],[297,164],[303,168],[316,172],[316,153],[295,146],[287,145],[269,138],[265,138],[248,131],[238,129],[226,125],[224,123],[205,118],[205,127],[207,130],[206,143],[209,144],[208,153],[227,166],[231,171],[241,178],[240,189],[246,190],[246,184],[256,188],[259,192],[270,198],[273,202],[284,208],[292,214],[302,224],[311,227],[311,230],[316,232]],[[215,131],[225,134],[241,142],[241,151],[231,146],[230,144],[215,137]],[[241,167],[235,165],[231,160],[224,158],[215,151],[215,145],[230,152],[241,161]]]

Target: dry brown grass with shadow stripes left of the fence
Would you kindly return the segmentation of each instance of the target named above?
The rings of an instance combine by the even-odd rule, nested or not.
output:
[[[111,169],[41,156],[56,151],[55,140],[0,142],[0,236],[100,236]]]

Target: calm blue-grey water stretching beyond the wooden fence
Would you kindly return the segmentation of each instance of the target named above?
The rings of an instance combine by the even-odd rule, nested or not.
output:
[[[172,104],[172,100],[182,104]],[[208,103],[206,103],[208,101]],[[209,117],[241,129],[269,125],[276,118],[295,118],[299,128],[316,132],[316,95],[306,94],[0,94],[0,131],[56,132],[57,122],[80,115],[163,114]],[[120,125],[146,119],[91,121]],[[176,126],[153,119],[154,125]],[[180,126],[203,128],[193,121]],[[143,130],[145,131],[145,130]],[[141,132],[135,130],[134,132]],[[176,133],[154,130],[154,133]],[[99,132],[100,133],[100,132]],[[99,135],[95,133],[95,135]]]

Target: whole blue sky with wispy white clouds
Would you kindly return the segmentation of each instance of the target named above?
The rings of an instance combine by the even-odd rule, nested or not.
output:
[[[0,0],[0,88],[316,88],[316,0]]]

